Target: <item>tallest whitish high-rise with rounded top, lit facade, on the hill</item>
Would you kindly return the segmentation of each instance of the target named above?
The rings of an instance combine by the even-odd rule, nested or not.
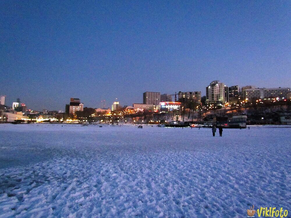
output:
[[[212,81],[206,87],[206,103],[226,103],[228,102],[228,86],[219,80]]]

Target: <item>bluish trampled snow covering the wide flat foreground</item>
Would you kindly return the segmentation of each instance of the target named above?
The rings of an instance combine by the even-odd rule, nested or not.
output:
[[[0,125],[0,217],[291,210],[291,128]]]

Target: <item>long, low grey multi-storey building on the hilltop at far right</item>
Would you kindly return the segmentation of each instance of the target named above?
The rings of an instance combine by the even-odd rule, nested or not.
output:
[[[244,89],[242,96],[243,99],[258,100],[258,99],[273,99],[273,98],[287,98],[290,88],[254,88]]]

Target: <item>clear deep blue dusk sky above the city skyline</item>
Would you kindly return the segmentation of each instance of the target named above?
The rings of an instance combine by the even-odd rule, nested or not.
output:
[[[0,95],[33,110],[291,87],[291,1],[1,1]]]

